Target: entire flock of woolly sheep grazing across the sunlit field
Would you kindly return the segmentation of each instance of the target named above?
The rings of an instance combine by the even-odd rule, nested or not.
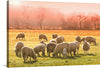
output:
[[[24,38],[25,40],[25,34],[20,33],[16,36],[17,38]],[[83,37],[80,36],[75,37],[75,41],[73,42],[64,42],[66,38],[64,36],[59,36],[57,34],[52,34],[51,38],[48,39],[45,34],[40,34],[38,36],[39,42],[37,45],[35,45],[33,48],[27,47],[23,42],[19,41],[15,45],[15,54],[17,57],[22,57],[24,62],[30,57],[34,59],[34,61],[37,61],[38,57],[40,57],[40,52],[42,52],[42,57],[47,56],[48,57],[62,57],[67,58],[68,56],[76,56],[79,54],[80,46],[82,46],[84,55],[89,53],[91,43],[94,43],[96,45],[96,39],[94,37]],[[20,39],[19,39],[20,40]],[[48,43],[46,43],[49,41]],[[82,43],[82,44],[81,44]],[[34,44],[33,44],[34,45]],[[73,54],[72,54],[73,53]]]

